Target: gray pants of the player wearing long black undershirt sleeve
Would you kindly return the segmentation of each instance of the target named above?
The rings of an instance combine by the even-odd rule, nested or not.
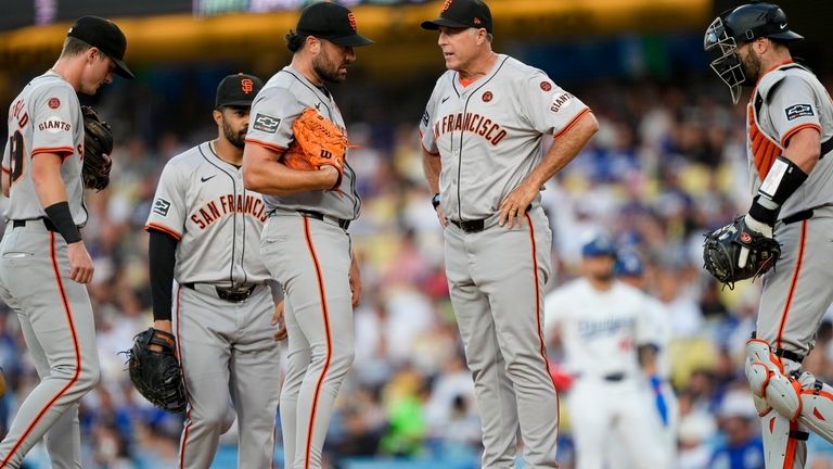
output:
[[[176,330],[189,397],[180,468],[212,465],[235,410],[239,467],[271,467],[280,394],[280,348],[270,325],[273,306],[266,286],[243,303],[180,288]]]

